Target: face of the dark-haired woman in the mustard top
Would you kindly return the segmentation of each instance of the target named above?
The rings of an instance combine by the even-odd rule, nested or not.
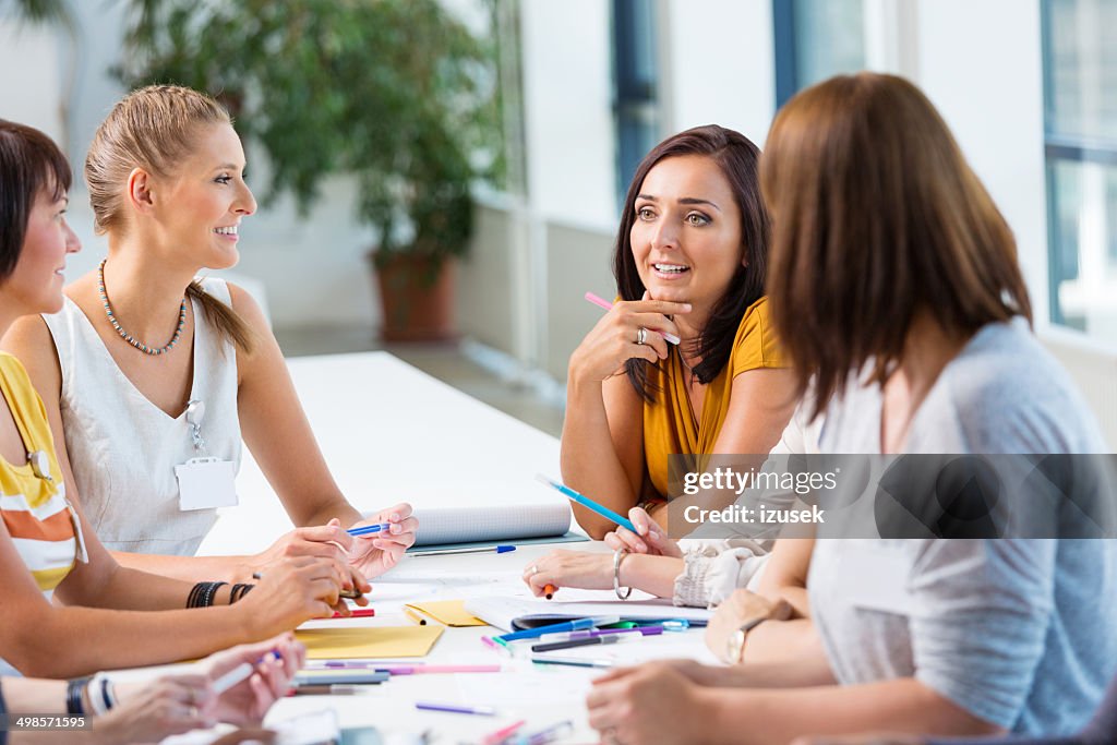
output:
[[[629,231],[643,286],[657,300],[708,313],[744,260],[741,211],[722,169],[705,155],[657,163],[636,198]]]

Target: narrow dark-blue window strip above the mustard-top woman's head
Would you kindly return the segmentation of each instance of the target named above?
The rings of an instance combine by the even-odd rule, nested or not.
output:
[[[648,151],[660,140],[651,0],[613,0],[613,90],[617,121],[617,203]]]

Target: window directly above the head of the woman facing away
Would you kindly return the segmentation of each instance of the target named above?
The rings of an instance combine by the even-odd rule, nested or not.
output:
[[[772,0],[775,99],[865,68],[862,0]]]

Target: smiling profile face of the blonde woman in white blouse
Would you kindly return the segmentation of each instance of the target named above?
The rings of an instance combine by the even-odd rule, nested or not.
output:
[[[202,127],[191,155],[159,192],[156,216],[176,252],[210,269],[237,264],[240,220],[256,211],[256,199],[245,183],[245,151],[231,126]]]

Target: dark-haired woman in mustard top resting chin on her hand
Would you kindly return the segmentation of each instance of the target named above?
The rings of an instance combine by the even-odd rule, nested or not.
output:
[[[613,251],[620,300],[571,355],[562,434],[566,484],[614,512],[642,505],[666,525],[669,455],[766,455],[791,418],[795,379],[764,297],[758,156],[737,132],[696,127],[656,146],[629,187]],[[614,527],[579,506],[574,515],[594,538]],[[656,557],[631,558],[636,572]],[[609,556],[551,579],[588,586],[572,574],[600,580],[607,560],[611,586]],[[670,595],[680,561],[648,562],[658,579],[630,581]]]

